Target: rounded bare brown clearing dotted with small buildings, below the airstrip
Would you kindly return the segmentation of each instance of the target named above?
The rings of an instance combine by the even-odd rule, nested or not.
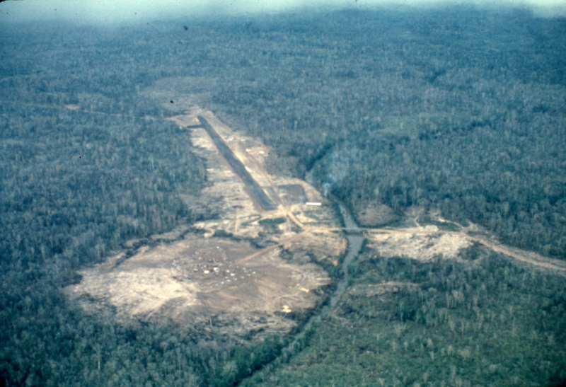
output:
[[[82,270],[81,283],[66,291],[86,311],[115,308],[125,323],[206,322],[221,314],[238,321],[235,330],[247,332],[258,328],[256,320],[263,315],[271,324],[264,329],[288,331],[295,323],[279,312],[313,308],[322,299],[316,289],[330,279],[319,265],[283,259],[279,249],[239,262],[257,252],[245,241],[190,236],[143,248],[119,265],[120,255]]]

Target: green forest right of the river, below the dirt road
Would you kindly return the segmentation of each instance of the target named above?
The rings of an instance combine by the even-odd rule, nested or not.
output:
[[[566,378],[565,278],[486,251],[475,265],[372,253],[309,346],[243,386],[548,386]],[[389,290],[376,292],[380,284]]]

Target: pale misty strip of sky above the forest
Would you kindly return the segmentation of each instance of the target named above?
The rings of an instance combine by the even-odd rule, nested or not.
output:
[[[304,6],[366,8],[382,4],[527,6],[544,16],[565,16],[566,0],[8,0],[0,3],[2,23],[64,19],[84,23],[151,22],[168,16],[249,14],[289,11]]]

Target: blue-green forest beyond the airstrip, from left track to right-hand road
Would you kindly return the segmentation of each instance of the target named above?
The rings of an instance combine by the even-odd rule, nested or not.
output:
[[[65,81],[17,52],[20,65],[2,71],[20,75],[2,81],[13,87],[1,99],[160,117],[180,110],[160,112],[166,93],[138,91],[185,77],[169,80],[174,93],[262,137],[277,154],[270,166],[331,187],[354,209],[437,207],[566,258],[563,19],[460,6],[249,22],[72,30],[59,41],[66,56],[30,39]]]

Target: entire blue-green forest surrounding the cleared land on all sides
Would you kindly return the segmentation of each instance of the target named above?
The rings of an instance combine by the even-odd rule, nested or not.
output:
[[[218,216],[180,200],[206,166],[163,120],[181,109],[163,84],[354,214],[439,209],[566,259],[564,18],[348,9],[37,22],[0,41],[0,386],[564,383],[565,279],[477,246],[429,263],[366,248],[335,316],[277,361],[287,337],[202,342],[200,326],[125,327],[62,294],[128,241]],[[391,281],[416,285],[356,296]]]

